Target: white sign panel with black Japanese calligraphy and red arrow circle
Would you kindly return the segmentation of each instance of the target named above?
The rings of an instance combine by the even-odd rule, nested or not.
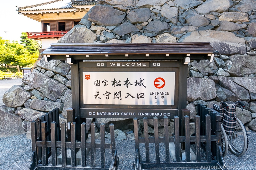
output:
[[[83,72],[84,104],[174,105],[175,72]]]

